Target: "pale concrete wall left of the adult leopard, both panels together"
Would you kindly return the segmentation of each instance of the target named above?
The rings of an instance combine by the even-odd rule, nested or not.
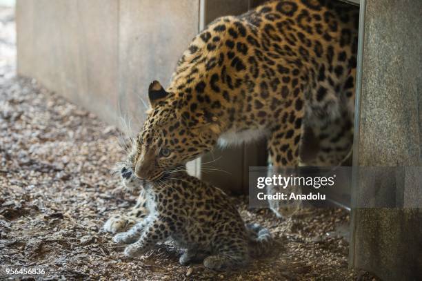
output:
[[[148,85],[168,84],[199,29],[199,0],[18,0],[16,14],[19,75],[118,125],[142,121]]]

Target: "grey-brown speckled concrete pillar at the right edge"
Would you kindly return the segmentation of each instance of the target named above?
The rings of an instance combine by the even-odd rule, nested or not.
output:
[[[383,280],[422,280],[422,1],[363,9],[354,166],[391,168],[354,173],[351,263]]]

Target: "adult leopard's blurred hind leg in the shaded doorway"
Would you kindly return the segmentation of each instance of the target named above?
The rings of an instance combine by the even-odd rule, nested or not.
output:
[[[322,101],[312,99],[307,102],[303,119],[301,166],[351,165],[354,87],[350,88],[350,84],[355,82],[356,68],[351,68],[348,75],[339,80],[336,88],[328,90],[328,95]],[[317,83],[326,82],[317,81]],[[330,89],[327,84],[322,86]],[[313,96],[317,95],[317,89],[317,87],[310,89]]]

